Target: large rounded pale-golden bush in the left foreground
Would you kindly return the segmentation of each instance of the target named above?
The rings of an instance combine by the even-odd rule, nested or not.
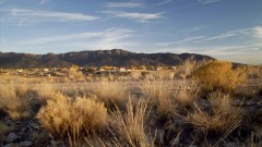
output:
[[[103,128],[106,125],[107,109],[95,99],[78,97],[72,101],[58,93],[47,100],[37,119],[52,135],[78,138],[82,133]]]

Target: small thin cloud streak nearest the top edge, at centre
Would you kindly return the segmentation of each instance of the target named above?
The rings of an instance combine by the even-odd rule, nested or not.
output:
[[[141,8],[141,7],[144,7],[143,3],[135,3],[135,2],[106,2],[104,5],[107,8]]]

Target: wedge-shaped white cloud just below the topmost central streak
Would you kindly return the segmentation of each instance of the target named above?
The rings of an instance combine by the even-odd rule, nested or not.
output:
[[[135,20],[140,23],[150,23],[153,20],[157,20],[163,17],[163,13],[130,13],[130,12],[120,12],[120,11],[103,11],[105,14],[110,14],[114,17],[123,17],[123,19],[130,19]]]

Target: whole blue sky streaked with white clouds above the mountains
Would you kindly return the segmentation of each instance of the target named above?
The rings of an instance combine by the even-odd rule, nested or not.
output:
[[[124,49],[262,63],[262,0],[0,0],[0,51]]]

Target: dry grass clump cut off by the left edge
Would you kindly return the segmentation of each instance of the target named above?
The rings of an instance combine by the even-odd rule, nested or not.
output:
[[[0,111],[4,111],[12,119],[29,117],[29,99],[26,85],[0,85]]]

